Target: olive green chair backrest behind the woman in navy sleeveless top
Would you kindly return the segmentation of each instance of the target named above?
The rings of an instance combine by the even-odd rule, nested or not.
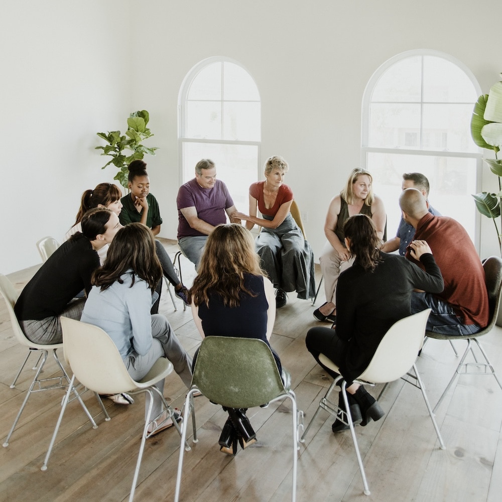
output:
[[[202,340],[192,385],[228,408],[260,406],[285,392],[270,347],[256,338],[231,336]]]

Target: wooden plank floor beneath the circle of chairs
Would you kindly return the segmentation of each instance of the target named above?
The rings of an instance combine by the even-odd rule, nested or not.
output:
[[[171,257],[177,250],[164,239]],[[21,289],[37,267],[11,274]],[[183,279],[190,285],[194,268],[182,258]],[[0,271],[1,272],[1,271]],[[317,305],[323,302],[323,295]],[[193,354],[200,343],[190,310],[177,301],[174,312],[167,291],[160,311]],[[290,370],[299,408],[306,424],[329,386],[322,368],[305,348],[305,334],[316,325],[310,302],[290,294],[277,313],[272,345]],[[502,329],[496,327],[482,342],[502,376]],[[456,342],[463,351],[464,344]],[[26,354],[14,339],[3,299],[0,299],[0,406],[2,442],[33,378],[35,356],[23,370],[15,389],[14,375]],[[430,340],[418,360],[434,405],[456,367],[449,344]],[[44,373],[55,372],[48,361]],[[167,399],[181,408],[186,389],[176,374],[166,381]],[[374,395],[377,387],[370,390]],[[84,398],[96,415],[93,430],[77,403],[70,403],[56,440],[48,470],[40,466],[59,414],[62,391],[33,395],[10,445],[0,448],[0,500],[62,502],[121,501],[129,497],[143,427],[144,398],[132,406],[105,403],[111,416],[103,420],[92,395]],[[437,413],[447,449],[438,447],[432,423],[419,390],[402,380],[389,385],[381,399],[386,411],[379,422],[357,427],[371,494],[362,483],[348,432],[334,435],[333,418],[321,412],[312,425],[298,460],[298,500],[495,502],[502,492],[502,391],[493,378],[463,375]],[[240,450],[235,458],[218,451],[217,440],[225,413],[204,397],[196,399],[199,442],[185,452],[181,499],[186,502],[260,501],[291,499],[291,406],[254,408],[248,415],[258,432],[258,443]],[[176,482],[179,436],[169,429],[147,441],[135,500],[172,500]]]

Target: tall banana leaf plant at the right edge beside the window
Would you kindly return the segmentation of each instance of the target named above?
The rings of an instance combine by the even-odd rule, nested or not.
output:
[[[502,76],[502,73],[500,74]],[[474,105],[471,118],[471,136],[474,143],[492,150],[494,159],[483,159],[490,171],[498,178],[498,193],[481,192],[473,194],[477,210],[491,218],[497,232],[498,246],[502,253],[502,240],[496,218],[500,217],[502,228],[502,159],[497,154],[502,148],[502,82],[492,85],[488,94],[479,96]]]

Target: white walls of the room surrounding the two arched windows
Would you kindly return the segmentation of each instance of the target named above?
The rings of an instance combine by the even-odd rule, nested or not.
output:
[[[0,41],[10,51],[2,55],[9,81],[3,79],[0,98],[8,140],[4,273],[39,262],[34,242],[61,236],[81,192],[111,180],[111,171],[106,177],[99,170],[104,157],[93,150],[95,133],[123,130],[136,109],[150,111],[155,137],[148,144],[160,147],[146,160],[164,218],[161,235],[176,236],[178,92],[186,73],[206,57],[233,58],[257,81],[262,161],[274,154],[288,160],[287,183],[308,211],[316,257],[328,202],[359,165],[361,100],[373,71],[421,48],[462,61],[484,92],[502,70],[500,55],[486,49],[499,46],[498,31],[485,23],[499,0],[25,0],[2,9],[9,22]],[[494,189],[494,181],[484,170],[478,190]],[[496,253],[486,218],[482,235],[481,256]]]

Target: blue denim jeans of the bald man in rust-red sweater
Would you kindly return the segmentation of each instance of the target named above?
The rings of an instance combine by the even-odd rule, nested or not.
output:
[[[411,313],[416,314],[428,308],[432,312],[427,320],[427,331],[443,335],[471,335],[482,329],[477,324],[463,324],[462,318],[456,315],[453,308],[433,294],[413,292]]]

